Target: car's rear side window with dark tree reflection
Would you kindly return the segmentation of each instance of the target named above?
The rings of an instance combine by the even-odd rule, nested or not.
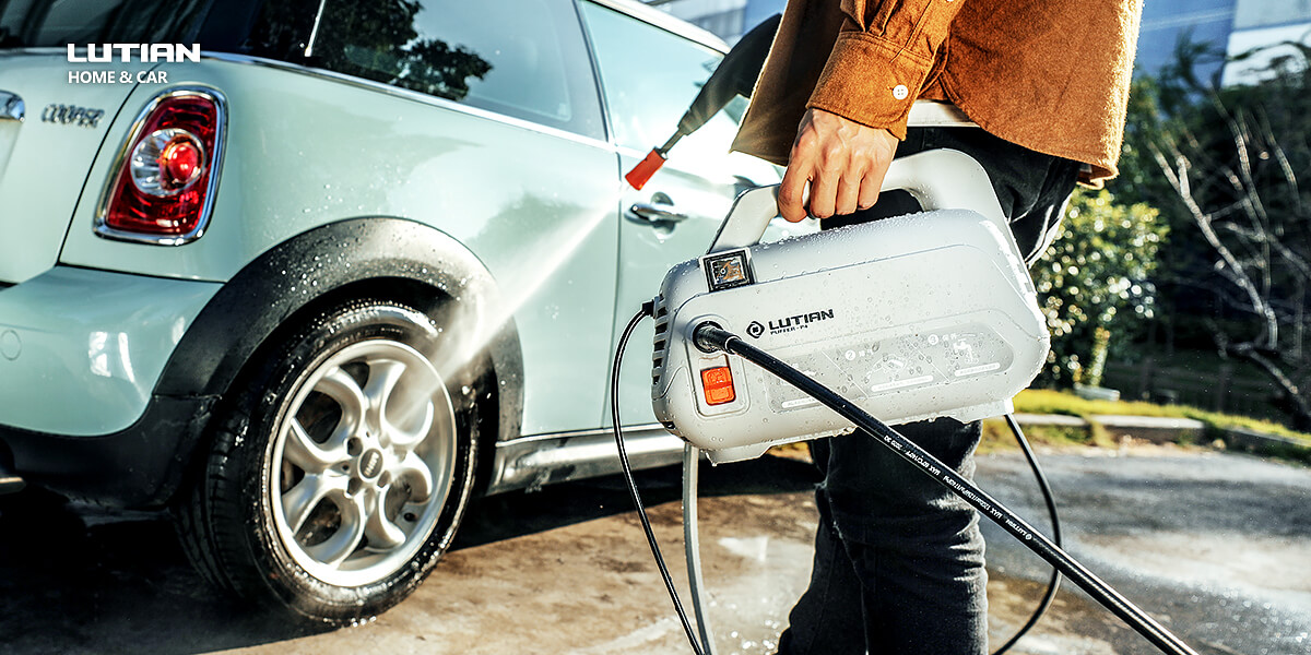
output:
[[[604,136],[569,0],[326,0],[323,7],[311,38],[298,39],[315,3],[270,0],[248,51]]]

